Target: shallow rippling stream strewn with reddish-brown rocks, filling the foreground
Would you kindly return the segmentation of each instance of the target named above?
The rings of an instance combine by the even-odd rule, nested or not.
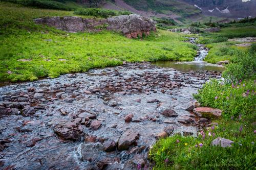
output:
[[[186,109],[220,74],[127,63],[1,87],[0,167],[150,168],[158,138],[210,123]]]

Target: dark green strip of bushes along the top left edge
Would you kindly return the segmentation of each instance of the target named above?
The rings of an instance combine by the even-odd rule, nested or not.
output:
[[[48,0],[4,0],[27,7],[37,7],[44,9],[71,10],[71,8],[63,3]]]

